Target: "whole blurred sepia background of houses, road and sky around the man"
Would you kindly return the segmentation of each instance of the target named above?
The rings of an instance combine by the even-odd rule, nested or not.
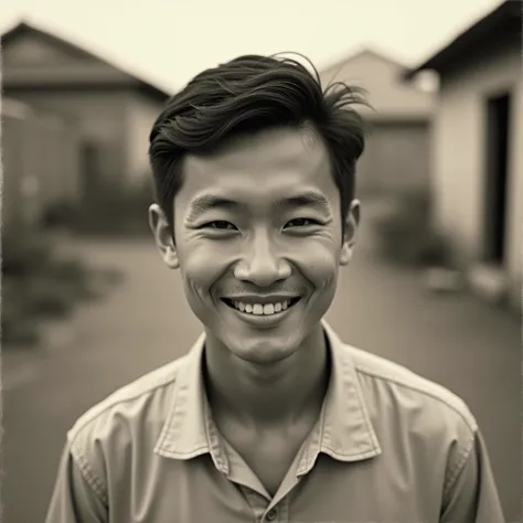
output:
[[[521,521],[521,3],[201,3],[0,7],[2,521],[43,521],[74,420],[201,330],[148,232],[153,119],[200,70],[290,50],[372,105],[327,319],[468,403]]]

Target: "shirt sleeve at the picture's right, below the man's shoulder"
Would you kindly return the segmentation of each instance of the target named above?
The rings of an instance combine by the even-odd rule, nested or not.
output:
[[[487,447],[478,430],[447,490],[440,523],[505,523]]]

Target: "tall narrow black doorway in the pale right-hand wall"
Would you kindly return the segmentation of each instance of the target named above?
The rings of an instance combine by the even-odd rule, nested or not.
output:
[[[502,265],[505,256],[510,93],[487,99],[484,259]]]

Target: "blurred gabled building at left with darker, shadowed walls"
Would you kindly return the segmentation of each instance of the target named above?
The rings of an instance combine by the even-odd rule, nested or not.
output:
[[[40,209],[88,200],[103,182],[143,181],[148,135],[168,93],[26,23],[1,43],[4,180],[13,201],[24,194]]]

